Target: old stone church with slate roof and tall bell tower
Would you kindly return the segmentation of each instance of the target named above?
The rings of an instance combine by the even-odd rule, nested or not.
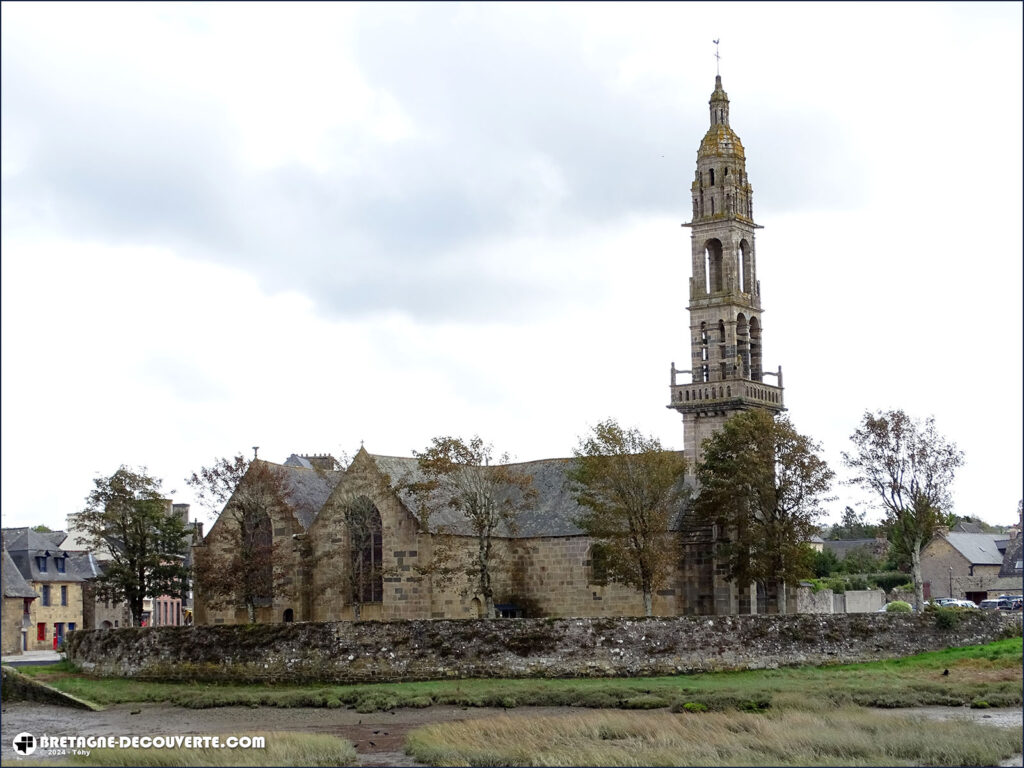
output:
[[[690,365],[671,367],[668,408],[683,419],[686,458],[740,411],[784,411],[782,370],[766,371],[762,355],[761,284],[757,272],[753,188],[739,137],[729,125],[729,98],[720,76],[709,101],[710,127],[697,150],[689,286]],[[690,381],[684,377],[689,375]],[[766,382],[766,378],[774,379]],[[570,459],[525,462],[514,470],[531,479],[532,509],[514,530],[494,540],[493,587],[505,616],[642,615],[639,591],[605,578],[595,543],[575,524],[581,508],[566,469]],[[255,462],[254,462],[255,464]],[[333,622],[353,618],[461,618],[483,613],[481,596],[465,578],[439,580],[430,568],[441,547],[463,559],[476,540],[455,510],[428,514],[410,483],[422,479],[414,458],[376,456],[360,449],[349,467],[330,457],[295,456],[271,465],[285,479],[285,498],[265,512],[272,579],[256,601],[256,620]],[[250,474],[252,474],[250,468]],[[246,478],[236,494],[245,493]],[[357,499],[370,513],[370,536],[358,545],[340,513]],[[223,567],[237,537],[226,514],[197,545],[197,568]],[[770,611],[774,595],[757,585],[735,585],[716,562],[716,531],[681,514],[675,523],[683,556],[653,599],[655,615]],[[352,569],[369,574],[358,582]],[[247,610],[217,605],[196,589],[198,624],[247,621]],[[357,584],[353,587],[353,584]],[[769,587],[769,590],[771,588]],[[356,594],[357,593],[357,594]]]

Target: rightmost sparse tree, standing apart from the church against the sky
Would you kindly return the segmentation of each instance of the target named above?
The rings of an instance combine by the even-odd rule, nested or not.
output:
[[[865,413],[850,436],[854,451],[843,460],[851,482],[869,490],[886,514],[884,526],[897,555],[910,561],[914,605],[925,604],[921,549],[950,522],[949,487],[964,454],[939,434],[935,419],[911,419],[903,411]]]

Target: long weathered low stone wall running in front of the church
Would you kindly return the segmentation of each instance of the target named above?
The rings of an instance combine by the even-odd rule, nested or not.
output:
[[[152,627],[73,633],[84,671],[151,680],[368,683],[639,677],[892,658],[1020,634],[1005,611]]]

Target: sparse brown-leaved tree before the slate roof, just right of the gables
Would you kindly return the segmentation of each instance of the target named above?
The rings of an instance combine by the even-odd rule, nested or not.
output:
[[[436,507],[461,512],[476,539],[476,552],[465,572],[476,593],[483,598],[484,615],[495,616],[493,571],[498,561],[494,537],[514,534],[520,512],[531,508],[537,499],[529,475],[510,466],[508,454],[495,459],[494,446],[479,435],[468,442],[461,437],[434,437],[423,453],[413,452],[425,479],[416,483],[427,514]]]

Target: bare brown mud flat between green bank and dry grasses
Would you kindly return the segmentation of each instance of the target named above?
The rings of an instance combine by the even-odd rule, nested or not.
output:
[[[221,707],[210,710],[186,710],[163,703],[117,705],[102,712],[84,712],[50,705],[11,701],[3,703],[0,724],[3,765],[28,763],[31,758],[14,754],[12,742],[23,732],[36,736],[231,736],[257,731],[302,731],[330,733],[355,744],[362,766],[419,766],[406,755],[406,734],[428,723],[451,722],[492,717],[499,714],[531,717],[593,712],[570,707],[521,707],[514,710],[462,707],[427,707],[419,710],[396,709],[387,712],[357,713],[354,710],[271,709]],[[1024,726],[1019,709],[971,710],[963,707],[925,707],[910,710],[886,710],[894,715],[913,715],[948,720],[969,718],[980,723],[1020,729]],[[53,758],[47,757],[52,761]],[[1002,763],[1020,766],[1021,756]]]

